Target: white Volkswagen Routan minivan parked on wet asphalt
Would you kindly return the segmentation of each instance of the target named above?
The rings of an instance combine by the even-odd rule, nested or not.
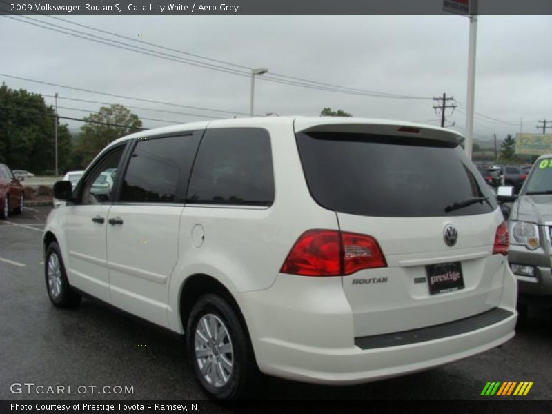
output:
[[[356,384],[514,335],[495,197],[462,137],[420,124],[267,117],[112,142],[50,213],[55,306],[86,293],[186,335],[211,397],[259,371]],[[109,191],[92,184],[106,170]]]

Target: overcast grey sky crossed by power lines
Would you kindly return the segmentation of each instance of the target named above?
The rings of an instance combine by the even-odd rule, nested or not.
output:
[[[273,74],[355,90],[431,98],[455,98],[447,125],[464,132],[469,19],[447,16],[61,16],[66,21],[106,30],[131,39],[201,55],[206,61],[156,49],[128,39],[95,32],[52,17],[32,17],[71,30],[133,43],[175,57],[249,72],[255,77],[255,114],[319,115],[325,106],[358,117],[424,121],[438,125],[431,99],[391,99],[318,90],[263,79]],[[29,21],[17,17],[21,21]],[[27,23],[0,17],[0,72],[63,86],[175,103],[182,106],[249,112],[250,77],[190,66],[114,48]],[[60,30],[59,27],[48,26]],[[68,31],[68,30],[66,30]],[[76,34],[75,32],[72,32]],[[79,34],[81,35],[81,34]],[[552,17],[481,16],[477,25],[475,138],[502,138],[507,133],[539,133],[539,119],[552,121]],[[149,52],[148,52],[149,53]],[[173,59],[173,58],[171,58]],[[233,117],[233,113],[131,101],[0,76],[10,88],[59,94],[59,115],[78,117],[101,105],[66,98],[122,103],[141,118],[197,121]],[[321,85],[318,85],[321,86]],[[328,86],[321,86],[328,88]],[[47,103],[54,99],[46,97]],[[449,102],[451,103],[451,102]],[[77,108],[84,110],[77,111]],[[193,116],[184,115],[204,115]],[[491,119],[492,118],[492,119]],[[69,121],[70,128],[81,123]],[[170,125],[144,120],[146,128]],[[547,132],[552,133],[551,129]]]

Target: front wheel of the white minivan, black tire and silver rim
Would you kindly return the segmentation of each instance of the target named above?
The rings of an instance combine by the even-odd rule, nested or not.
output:
[[[59,270],[59,272],[57,271]],[[54,306],[58,308],[76,308],[81,303],[81,295],[69,284],[61,250],[56,242],[50,243],[44,259],[44,277],[46,291]]]

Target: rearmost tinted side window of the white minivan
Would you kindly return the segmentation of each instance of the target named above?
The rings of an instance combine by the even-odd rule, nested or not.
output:
[[[270,206],[274,175],[270,136],[262,128],[207,130],[197,152],[187,202]]]

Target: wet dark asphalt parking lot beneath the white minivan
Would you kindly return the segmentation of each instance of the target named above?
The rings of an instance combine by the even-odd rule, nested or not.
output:
[[[0,221],[0,398],[202,398],[178,337],[89,299],[75,311],[50,305],[41,251],[49,210],[26,208],[22,215]],[[552,317],[549,311],[532,309],[513,340],[455,364],[346,387],[267,378],[257,397],[463,400],[479,398],[489,381],[531,381],[529,395],[522,398],[551,399],[551,371]],[[11,384],[24,382],[73,391],[85,386],[79,390],[86,391],[10,391]]]

